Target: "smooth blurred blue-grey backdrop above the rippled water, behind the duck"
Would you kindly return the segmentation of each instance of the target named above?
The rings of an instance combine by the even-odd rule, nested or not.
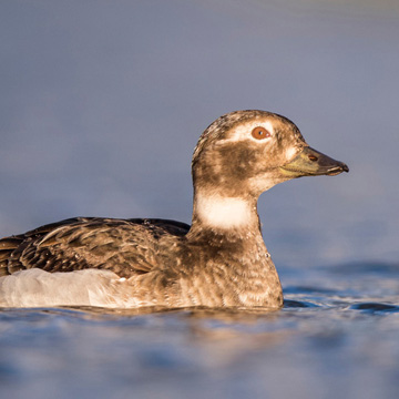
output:
[[[0,3],[0,235],[71,216],[191,222],[219,115],[293,120],[350,173],[259,200],[275,264],[398,262],[399,2]]]

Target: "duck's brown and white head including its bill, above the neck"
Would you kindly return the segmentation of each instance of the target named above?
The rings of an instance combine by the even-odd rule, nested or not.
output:
[[[196,194],[243,200],[290,178],[348,171],[311,149],[291,121],[265,111],[217,119],[200,137],[192,164]]]

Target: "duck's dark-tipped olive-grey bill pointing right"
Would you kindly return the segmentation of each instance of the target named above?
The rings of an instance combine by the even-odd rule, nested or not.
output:
[[[291,177],[334,176],[342,172],[349,172],[349,167],[344,162],[332,160],[309,146],[304,147],[291,162],[280,166],[280,170],[285,175]]]

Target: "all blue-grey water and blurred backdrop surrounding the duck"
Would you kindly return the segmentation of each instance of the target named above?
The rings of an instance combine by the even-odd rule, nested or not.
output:
[[[282,113],[350,173],[262,195],[285,307],[1,309],[1,398],[399,397],[396,1],[0,2],[0,235],[190,223],[202,131]]]

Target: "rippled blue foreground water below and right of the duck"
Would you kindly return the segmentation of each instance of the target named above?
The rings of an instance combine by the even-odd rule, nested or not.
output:
[[[383,264],[300,275],[286,269],[278,311],[3,309],[0,392],[392,398],[399,389],[397,277],[398,265]]]

